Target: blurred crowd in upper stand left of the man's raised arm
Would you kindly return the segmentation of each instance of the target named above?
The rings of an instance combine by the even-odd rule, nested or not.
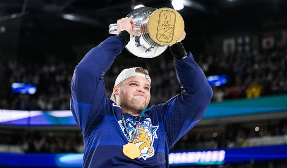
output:
[[[0,108],[16,110],[70,109],[70,82],[74,66],[69,63],[0,62]],[[36,84],[36,94],[12,93],[13,82]]]

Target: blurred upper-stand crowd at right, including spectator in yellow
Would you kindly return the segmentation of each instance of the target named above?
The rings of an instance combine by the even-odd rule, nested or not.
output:
[[[227,83],[214,87],[214,101],[256,98],[287,93],[287,49],[201,55],[198,64],[207,75],[227,74]]]

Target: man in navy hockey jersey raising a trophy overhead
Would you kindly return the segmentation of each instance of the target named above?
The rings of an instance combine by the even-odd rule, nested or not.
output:
[[[164,15],[169,16],[162,18],[168,30],[173,15]],[[178,96],[151,106],[142,116],[150,100],[151,80],[146,69],[132,67],[118,75],[111,98],[106,98],[105,72],[130,41],[144,35],[142,28],[135,31],[136,24],[130,17],[118,20],[117,35],[91,49],[74,70],[71,110],[84,138],[83,168],[168,168],[170,148],[200,121],[211,101],[213,93],[202,69],[181,43],[184,31],[167,44],[181,88]],[[163,43],[177,38],[173,31],[160,36]],[[153,38],[157,37],[150,35]],[[158,50],[159,45],[151,43]]]

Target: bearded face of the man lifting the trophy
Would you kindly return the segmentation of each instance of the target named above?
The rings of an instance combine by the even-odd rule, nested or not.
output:
[[[141,76],[124,80],[118,88],[118,105],[134,111],[143,111],[150,100],[149,81]]]

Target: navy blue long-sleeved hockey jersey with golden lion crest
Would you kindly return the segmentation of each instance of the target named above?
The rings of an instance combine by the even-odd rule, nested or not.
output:
[[[175,59],[181,93],[166,103],[153,105],[133,132],[135,116],[124,114],[106,97],[104,74],[124,46],[118,36],[108,37],[91,49],[72,77],[71,110],[84,138],[84,168],[167,168],[170,148],[204,115],[212,90],[202,69],[189,52]],[[129,159],[123,145],[133,138],[141,156]]]

